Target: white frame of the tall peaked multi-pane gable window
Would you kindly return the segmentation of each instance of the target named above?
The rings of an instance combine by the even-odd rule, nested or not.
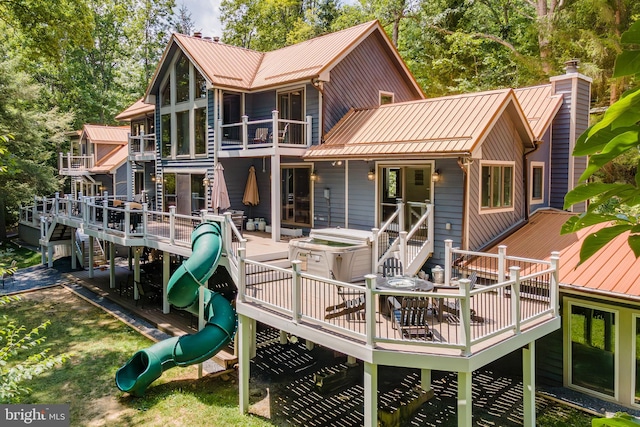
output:
[[[189,100],[176,104],[176,85],[177,85],[176,63],[178,62],[178,58],[180,58],[180,55],[185,55],[185,57],[187,58],[187,61],[189,61]],[[200,70],[197,70],[197,71],[200,72]],[[202,76],[204,77],[204,74],[202,72],[200,72],[200,74],[202,74]],[[171,136],[170,136],[171,154],[169,155],[169,157],[162,157],[162,149],[161,149],[160,150],[161,158],[170,159],[170,160],[179,160],[179,159],[196,159],[196,158],[207,157],[206,149],[204,153],[196,154],[195,152],[196,151],[196,136],[195,136],[196,113],[195,111],[196,109],[204,108],[205,123],[209,123],[209,119],[208,119],[209,111],[207,108],[208,94],[207,94],[207,97],[204,97],[204,98],[195,97],[196,96],[195,94],[196,67],[193,64],[193,62],[191,62],[189,57],[181,50],[176,52],[174,57],[171,59],[171,63],[169,64],[167,75],[161,81],[160,104],[162,104],[162,88],[167,83],[167,79],[171,79],[170,80],[171,81],[171,88],[170,88],[171,102],[169,105],[165,105],[165,106],[160,105],[160,116],[162,117],[163,114],[170,114],[171,116],[171,119],[170,119],[171,120]],[[206,77],[205,77],[205,80],[206,80]],[[177,154],[177,151],[178,151],[177,113],[184,112],[184,111],[189,112],[189,120],[188,120],[189,122],[189,125],[188,125],[189,126],[189,153],[178,155]],[[205,138],[207,137],[207,134],[208,132],[205,132]],[[162,121],[160,121],[160,135],[162,136]],[[160,141],[160,144],[162,144],[162,141]],[[207,142],[205,142],[205,146],[206,145],[207,145]]]

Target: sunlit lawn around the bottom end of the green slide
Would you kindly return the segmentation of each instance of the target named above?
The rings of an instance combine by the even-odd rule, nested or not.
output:
[[[51,320],[46,347],[52,353],[71,353],[65,365],[29,383],[32,392],[22,403],[68,403],[72,426],[273,425],[240,414],[235,382],[198,380],[194,366],[166,371],[144,397],[121,392],[116,370],[135,351],[151,345],[150,340],[63,288],[21,298],[3,307],[8,320],[27,328]]]

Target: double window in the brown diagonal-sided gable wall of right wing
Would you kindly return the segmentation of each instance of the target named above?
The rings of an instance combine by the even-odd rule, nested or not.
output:
[[[483,165],[480,185],[483,209],[513,207],[513,165]]]

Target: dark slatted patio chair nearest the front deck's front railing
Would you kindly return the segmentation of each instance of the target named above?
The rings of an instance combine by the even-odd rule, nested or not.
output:
[[[404,297],[401,301],[389,298],[388,303],[393,329],[399,330],[403,338],[433,339],[428,297]]]

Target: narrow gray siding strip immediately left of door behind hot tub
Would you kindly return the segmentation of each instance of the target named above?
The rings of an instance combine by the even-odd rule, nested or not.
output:
[[[375,226],[376,185],[367,179],[374,164],[352,160],[349,162],[349,224],[348,228],[371,230]]]

